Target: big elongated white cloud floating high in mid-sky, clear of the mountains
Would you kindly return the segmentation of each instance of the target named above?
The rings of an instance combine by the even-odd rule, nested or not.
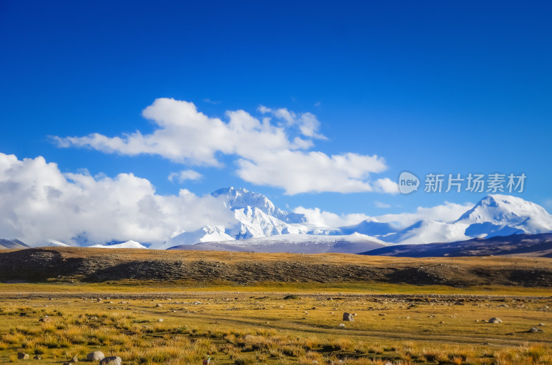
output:
[[[59,147],[89,147],[130,156],[156,154],[190,165],[221,166],[218,154],[237,156],[238,176],[255,185],[282,188],[286,194],[398,191],[388,178],[370,179],[370,174],[387,168],[379,156],[309,151],[313,138],[326,138],[318,133],[320,123],[314,114],[264,106],[258,110],[283,123],[273,125],[270,118],[259,120],[244,110],[226,112],[228,120],[222,121],[198,112],[193,103],[159,98],[142,113],[156,125],[151,134],[136,131],[108,137],[95,133],[54,140]]]

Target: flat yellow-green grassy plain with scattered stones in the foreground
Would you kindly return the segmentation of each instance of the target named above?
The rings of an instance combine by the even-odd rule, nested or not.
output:
[[[508,258],[506,266],[509,260],[517,267],[552,262]],[[500,269],[499,259],[491,265]],[[551,295],[546,287],[355,280],[4,283],[0,364],[61,364],[95,350],[124,364],[201,364],[206,357],[211,364],[552,364]],[[344,312],[354,321],[344,322]],[[18,360],[18,352],[30,359]]]

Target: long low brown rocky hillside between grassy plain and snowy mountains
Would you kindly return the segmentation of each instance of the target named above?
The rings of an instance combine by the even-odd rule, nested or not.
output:
[[[382,258],[324,253],[238,253],[52,247],[0,251],[0,280],[391,282],[552,287],[550,258]]]

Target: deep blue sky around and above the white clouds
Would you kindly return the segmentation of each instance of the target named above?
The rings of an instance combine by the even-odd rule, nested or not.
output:
[[[213,147],[213,166],[52,138],[151,134],[159,127],[142,111],[174,98],[224,123],[227,111],[270,116],[290,140],[312,141],[305,154],[380,156],[386,169],[360,178],[371,184],[404,170],[524,173],[518,195],[550,211],[551,10],[549,1],[2,1],[0,152],[43,156],[63,173],[132,173],[164,196],[246,187],[289,209],[378,216],[486,195],[289,195],[284,183],[241,176],[237,161],[255,151],[239,146]],[[326,138],[298,132],[302,115]],[[201,178],[168,179],[183,170]]]

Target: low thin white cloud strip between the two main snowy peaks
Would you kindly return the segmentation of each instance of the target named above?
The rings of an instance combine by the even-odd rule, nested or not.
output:
[[[375,202],[379,206],[380,202]],[[387,207],[387,205],[385,205]],[[462,213],[473,207],[473,203],[466,202],[457,204],[453,202],[444,202],[442,205],[435,207],[417,207],[412,213],[395,213],[385,214],[383,216],[367,216],[362,213],[336,214],[330,211],[322,211],[319,208],[304,208],[297,207],[293,209],[295,213],[304,214],[307,222],[314,227],[343,227],[348,225],[356,225],[363,220],[375,222],[393,223],[398,227],[408,227],[419,220],[437,220],[442,222],[450,222],[457,220],[462,216]]]

